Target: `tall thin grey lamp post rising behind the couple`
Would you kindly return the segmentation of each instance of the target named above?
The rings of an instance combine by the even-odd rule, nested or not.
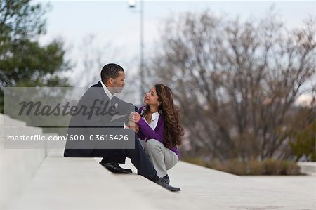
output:
[[[135,0],[129,1],[129,8],[135,8]],[[144,85],[144,78],[145,78],[145,70],[144,70],[144,1],[140,0],[140,98],[145,95],[145,85]]]

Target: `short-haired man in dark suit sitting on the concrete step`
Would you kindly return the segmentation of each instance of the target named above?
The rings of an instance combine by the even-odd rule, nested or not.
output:
[[[135,106],[113,96],[114,93],[121,93],[123,90],[124,79],[124,69],[121,66],[109,63],[103,67],[101,81],[84,93],[79,100],[77,109],[74,110],[74,113],[77,112],[77,114],[72,114],[64,157],[103,157],[100,164],[112,173],[131,173],[131,169],[122,169],[119,166],[119,163],[124,164],[126,157],[129,157],[138,170],[138,174],[171,192],[177,192],[180,188],[173,188],[163,178],[157,176],[157,171],[145,155],[143,147],[133,133],[133,128],[130,126],[130,129],[129,126],[126,126],[129,114],[135,111]],[[125,146],[125,142],[96,140],[99,135],[107,137],[110,134],[127,135],[129,138],[132,136],[133,139],[129,139],[129,142],[133,143],[134,148],[105,148],[106,144],[111,143],[114,146],[122,146],[122,144]],[[82,139],[73,140],[74,136],[77,138],[82,136]]]

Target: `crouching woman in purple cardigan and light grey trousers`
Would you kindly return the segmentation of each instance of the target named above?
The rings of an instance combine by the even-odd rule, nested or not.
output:
[[[157,176],[170,183],[167,170],[179,160],[177,145],[184,134],[180,126],[180,110],[173,103],[171,89],[163,84],[154,85],[146,93],[139,113],[133,112],[130,120],[138,125],[138,138],[144,140],[144,150],[157,171]]]

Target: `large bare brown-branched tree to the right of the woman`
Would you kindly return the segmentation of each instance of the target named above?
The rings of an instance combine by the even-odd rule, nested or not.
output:
[[[287,30],[274,13],[170,18],[149,68],[169,85],[192,144],[218,159],[285,158],[285,117],[315,75],[315,20]]]

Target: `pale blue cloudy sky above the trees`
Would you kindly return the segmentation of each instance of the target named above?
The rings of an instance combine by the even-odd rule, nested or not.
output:
[[[35,1],[37,2],[37,1]],[[104,52],[104,63],[117,62],[137,72],[140,55],[140,1],[129,8],[129,1],[40,1],[49,4],[46,13],[47,33],[40,41],[61,38],[67,48],[67,56],[75,69],[82,67],[84,37],[93,34],[94,44]],[[316,1],[143,1],[145,58],[159,43],[162,22],[173,15],[187,11],[200,13],[208,9],[212,13],[229,18],[239,16],[262,18],[274,5],[287,27],[299,27],[305,18],[316,14]],[[110,47],[109,47],[110,45]],[[107,50],[115,50],[111,55]],[[90,54],[93,56],[93,52]],[[100,71],[96,70],[95,74]]]

